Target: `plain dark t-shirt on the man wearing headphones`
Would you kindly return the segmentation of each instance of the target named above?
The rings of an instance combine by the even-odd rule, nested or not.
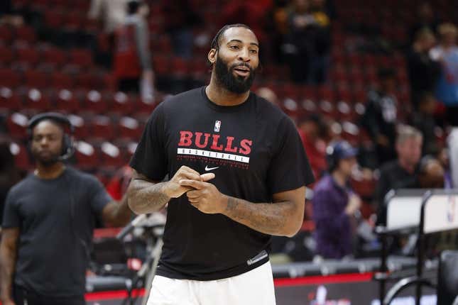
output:
[[[84,294],[94,223],[109,201],[97,178],[72,168],[12,187],[3,227],[21,230],[14,282],[45,296]]]

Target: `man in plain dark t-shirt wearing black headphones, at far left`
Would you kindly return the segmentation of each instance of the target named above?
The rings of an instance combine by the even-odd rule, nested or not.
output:
[[[96,218],[129,222],[126,199],[112,201],[92,175],[66,167],[73,153],[72,125],[59,113],[34,116],[28,125],[36,170],[6,199],[0,245],[4,305],[80,305]]]

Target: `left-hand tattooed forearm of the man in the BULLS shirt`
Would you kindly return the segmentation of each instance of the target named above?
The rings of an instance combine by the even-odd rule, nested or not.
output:
[[[133,179],[129,187],[129,206],[136,214],[158,211],[170,198],[163,192],[164,183]]]

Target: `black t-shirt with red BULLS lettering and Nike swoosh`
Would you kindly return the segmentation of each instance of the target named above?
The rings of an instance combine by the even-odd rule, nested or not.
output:
[[[313,182],[293,121],[255,94],[218,106],[205,87],[160,104],[149,119],[131,167],[160,181],[182,166],[214,172],[219,192],[271,202],[278,192]],[[222,214],[204,214],[186,195],[171,199],[157,274],[212,280],[239,275],[268,260],[270,235]]]

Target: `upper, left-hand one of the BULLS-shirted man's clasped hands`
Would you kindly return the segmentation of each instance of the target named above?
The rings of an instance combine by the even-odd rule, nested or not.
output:
[[[192,187],[182,187],[180,185],[180,180],[191,179],[196,181],[207,182],[213,178],[213,173],[199,174],[195,170],[192,170],[192,168],[183,165],[182,167],[180,167],[178,172],[175,173],[172,179],[170,179],[167,182],[167,184],[165,184],[164,193],[170,198],[178,198],[182,194],[185,194],[185,192],[192,189]]]

